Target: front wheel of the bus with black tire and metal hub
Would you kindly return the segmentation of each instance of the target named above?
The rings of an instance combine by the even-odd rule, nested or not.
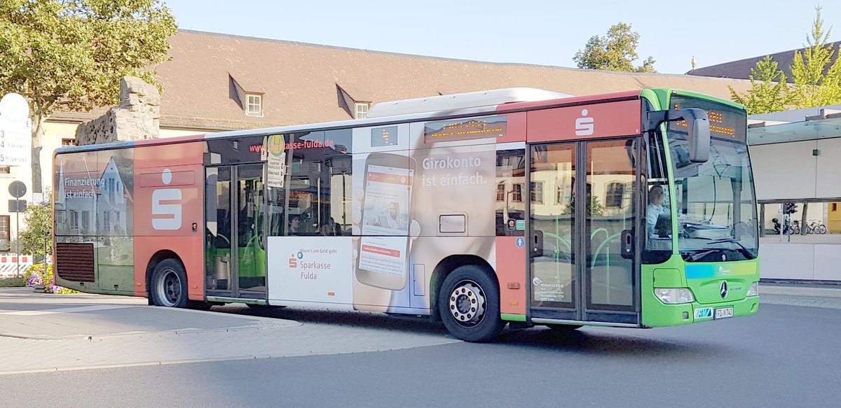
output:
[[[500,335],[500,289],[477,265],[464,265],[447,275],[438,292],[438,312],[447,332],[465,342],[486,342]]]

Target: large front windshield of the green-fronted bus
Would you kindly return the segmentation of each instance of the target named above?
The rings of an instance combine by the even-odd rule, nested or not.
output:
[[[669,123],[680,254],[690,262],[756,258],[758,222],[746,113],[722,103],[676,95],[671,106],[705,109],[711,133],[709,160],[692,163],[685,123]]]

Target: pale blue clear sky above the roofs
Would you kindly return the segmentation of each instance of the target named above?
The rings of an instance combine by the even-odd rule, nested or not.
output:
[[[635,65],[692,68],[807,44],[815,7],[798,1],[163,0],[180,29],[463,60],[575,67],[593,35],[619,22],[640,34]],[[820,4],[841,39],[841,2]]]

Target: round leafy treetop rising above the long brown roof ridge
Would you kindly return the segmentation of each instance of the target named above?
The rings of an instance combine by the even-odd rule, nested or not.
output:
[[[578,50],[573,60],[579,68],[625,72],[654,71],[654,59],[648,57],[643,65],[633,66],[637,55],[639,34],[631,31],[631,24],[619,23],[611,26],[604,37],[590,37],[584,50]]]

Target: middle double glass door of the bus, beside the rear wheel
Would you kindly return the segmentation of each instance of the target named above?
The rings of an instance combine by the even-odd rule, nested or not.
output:
[[[205,170],[208,296],[266,299],[263,165]]]

